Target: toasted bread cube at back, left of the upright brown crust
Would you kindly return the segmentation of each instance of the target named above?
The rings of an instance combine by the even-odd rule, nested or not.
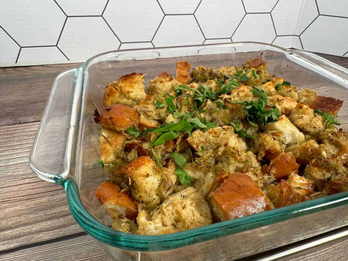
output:
[[[149,92],[165,95],[174,92],[174,85],[179,86],[180,81],[174,79],[168,72],[163,72],[149,83]]]

